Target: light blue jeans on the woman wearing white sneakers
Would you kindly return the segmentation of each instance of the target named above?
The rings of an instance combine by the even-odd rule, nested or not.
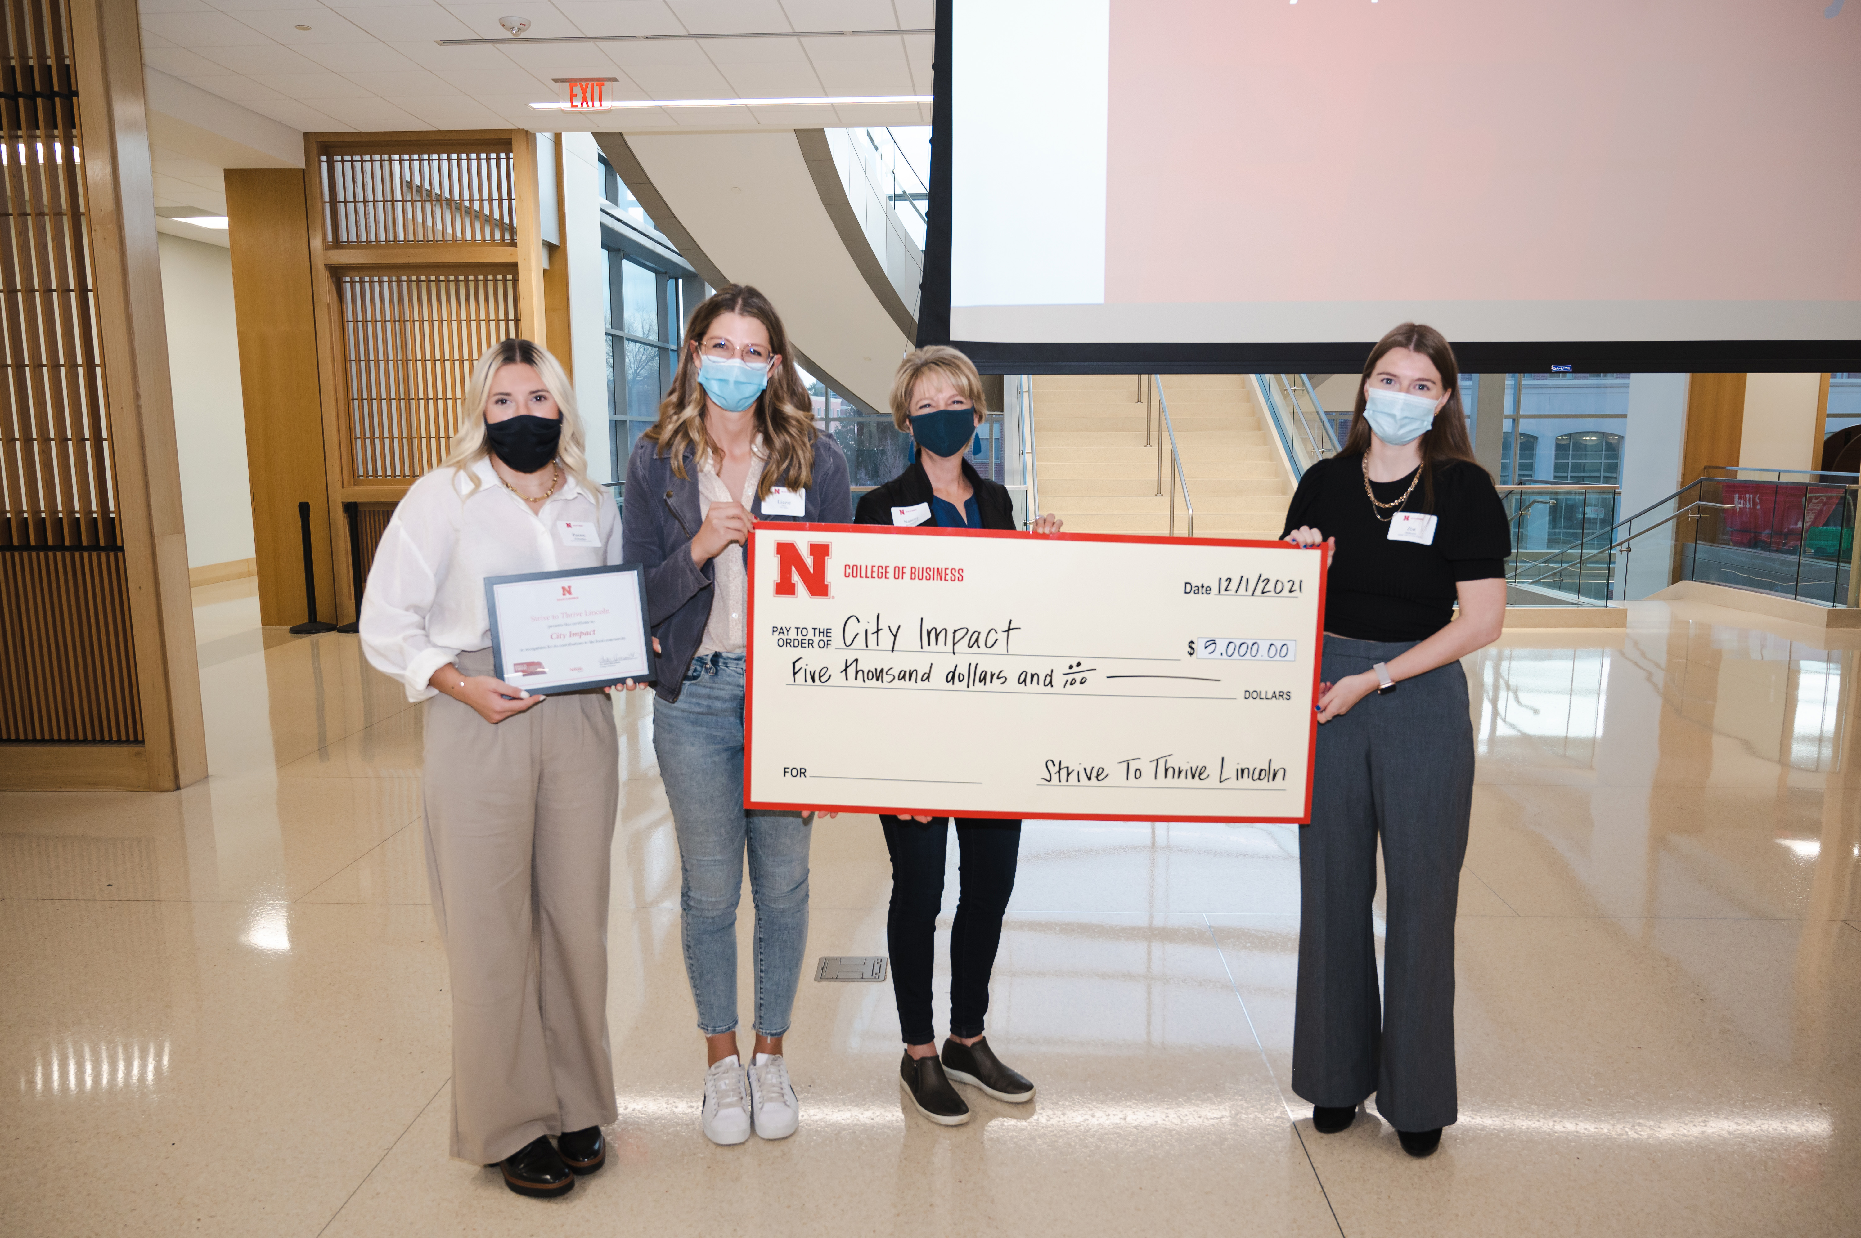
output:
[[[700,653],[679,698],[653,698],[653,752],[679,836],[679,936],[705,1035],[737,1029],[743,853],[756,901],[756,1029],[782,1035],[808,949],[808,841],[798,812],[743,810],[743,653]]]

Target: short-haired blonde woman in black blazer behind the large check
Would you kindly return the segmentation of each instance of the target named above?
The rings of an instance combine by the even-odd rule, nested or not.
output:
[[[1014,529],[1014,505],[999,482],[977,473],[964,452],[983,424],[983,380],[970,357],[955,348],[919,348],[899,363],[891,382],[891,421],[910,432],[917,458],[904,473],[860,499],[862,525],[936,525],[944,529]],[[1057,516],[1037,518],[1029,532],[1059,532]],[[996,1100],[1035,1098],[1035,1085],[1011,1070],[988,1048],[988,974],[1001,944],[1001,914],[1014,892],[1014,862],[1022,823],[996,817],[957,817],[962,856],[957,920],[949,935],[949,1039],[936,1052],[930,1022],[930,970],[936,914],[944,905],[944,858],[949,817],[878,817],[891,853],[891,910],[886,944],[891,951],[891,990],[899,1002],[904,1059],[899,1083],[917,1111],[932,1123],[970,1121],[951,1080],[981,1087]]]

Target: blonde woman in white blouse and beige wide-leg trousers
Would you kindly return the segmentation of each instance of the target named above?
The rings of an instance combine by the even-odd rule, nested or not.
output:
[[[452,1154],[497,1164],[519,1195],[564,1195],[607,1160],[620,763],[601,689],[530,696],[491,674],[484,579],[618,562],[620,519],[586,477],[568,376],[543,348],[506,339],[473,367],[445,464],[382,534],[361,640],[408,700],[426,702],[426,873],[452,972]]]

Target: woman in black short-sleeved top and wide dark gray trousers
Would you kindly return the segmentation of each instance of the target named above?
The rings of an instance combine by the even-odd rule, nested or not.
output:
[[[1511,553],[1439,331],[1405,322],[1370,352],[1344,451],[1306,471],[1284,538],[1332,547],[1292,1085],[1323,1134],[1375,1093],[1403,1149],[1427,1156],[1457,1117],[1453,914],[1474,795],[1461,659],[1500,635]],[[1370,918],[1379,836],[1386,1002]]]

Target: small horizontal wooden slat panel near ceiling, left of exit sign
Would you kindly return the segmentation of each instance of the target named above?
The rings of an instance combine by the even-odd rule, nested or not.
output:
[[[326,151],[320,166],[326,244],[515,244],[510,164],[508,145]]]

